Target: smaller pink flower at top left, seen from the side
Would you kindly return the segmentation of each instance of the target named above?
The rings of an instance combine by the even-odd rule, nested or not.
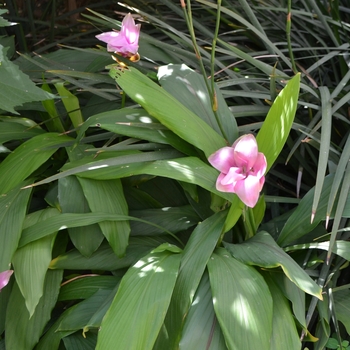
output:
[[[128,13],[122,22],[120,32],[106,32],[96,35],[96,38],[107,43],[107,51],[115,52],[123,57],[137,54],[141,24],[135,25],[131,14]]]

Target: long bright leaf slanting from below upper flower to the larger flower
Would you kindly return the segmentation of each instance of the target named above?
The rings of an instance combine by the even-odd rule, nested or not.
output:
[[[226,146],[224,139],[159,85],[133,67],[110,66],[110,75],[135,102],[207,157]],[[137,86],[137,89],[135,87]]]

